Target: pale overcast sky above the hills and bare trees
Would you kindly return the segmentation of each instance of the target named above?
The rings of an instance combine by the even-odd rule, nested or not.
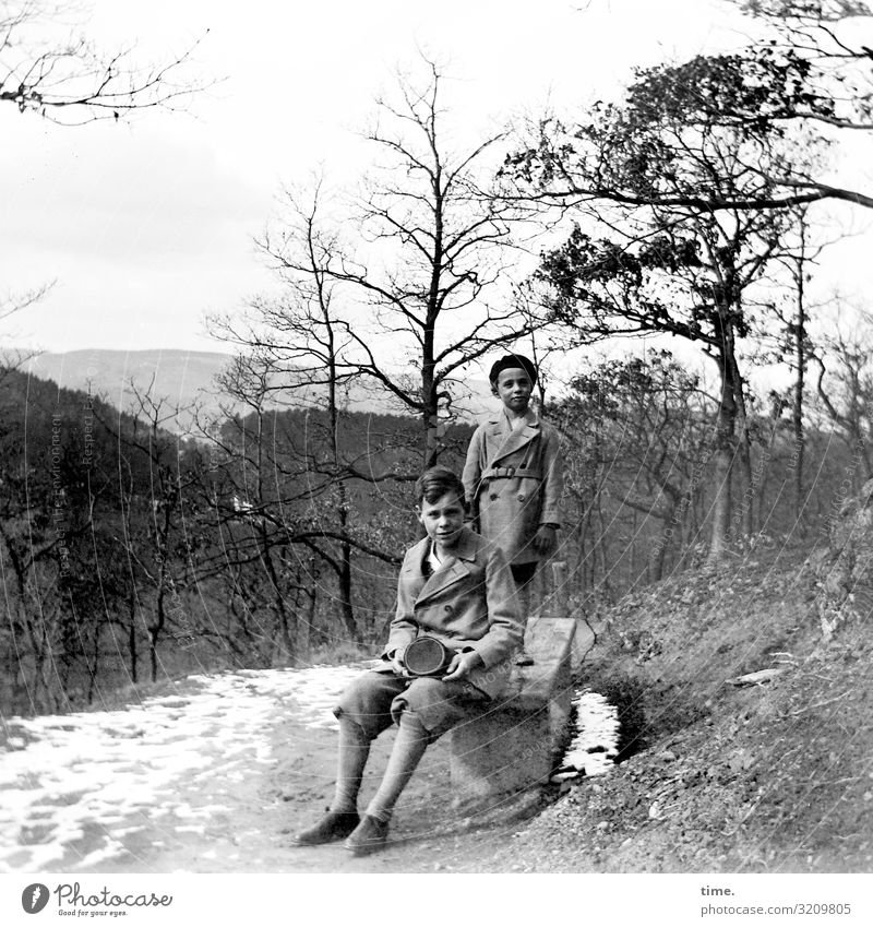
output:
[[[417,48],[451,61],[452,117],[478,133],[547,105],[572,112],[634,64],[736,44],[739,26],[716,0],[98,0],[98,44],[160,60],[208,29],[199,66],[224,80],[192,115],[132,126],[61,128],[2,107],[0,290],[57,283],[0,335],[49,350],[226,349],[204,316],[271,285],[252,237],[282,183],[320,165],[336,182],[357,176],[372,152],[355,130]],[[869,238],[847,253],[868,252]],[[869,261],[847,260],[870,280]]]

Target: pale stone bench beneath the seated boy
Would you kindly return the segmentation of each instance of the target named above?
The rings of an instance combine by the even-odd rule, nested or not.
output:
[[[459,806],[493,803],[549,781],[570,718],[572,618],[533,619],[531,666],[516,666],[499,704],[452,734],[452,791]]]

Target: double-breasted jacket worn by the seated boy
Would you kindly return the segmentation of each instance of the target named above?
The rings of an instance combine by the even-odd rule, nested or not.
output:
[[[468,527],[439,570],[426,575],[426,537],[406,551],[397,579],[397,609],[383,661],[419,633],[453,651],[475,650],[482,665],[469,681],[490,698],[505,686],[524,625],[515,583],[503,554]],[[378,672],[392,672],[390,664]]]

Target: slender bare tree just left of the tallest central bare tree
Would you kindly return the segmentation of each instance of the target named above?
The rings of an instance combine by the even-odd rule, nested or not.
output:
[[[366,526],[351,530],[349,484],[378,485],[386,480],[408,482],[411,477],[398,472],[396,466],[380,472],[373,465],[373,456],[384,452],[385,445],[368,443],[349,451],[347,442],[342,440],[348,389],[359,373],[358,366],[347,356],[352,338],[348,320],[335,308],[336,283],[323,270],[337,246],[334,236],[325,236],[318,228],[320,195],[321,182],[306,205],[290,191],[285,193],[286,219],[292,224],[295,240],[302,252],[300,261],[306,262],[309,274],[287,274],[280,263],[276,270],[285,284],[283,296],[259,297],[244,318],[213,318],[211,325],[218,337],[248,352],[236,358],[220,383],[226,393],[248,405],[259,420],[264,414],[264,403],[268,402],[274,403],[274,411],[289,403],[324,409],[326,421],[322,424],[314,415],[308,419],[302,445],[288,448],[289,455],[279,465],[285,468],[286,477],[297,467],[297,480],[313,502],[318,500],[319,523],[328,530],[333,526],[338,539],[336,556],[324,547],[318,548],[318,556],[337,574],[347,635],[360,640],[351,601],[352,549],[367,537],[368,530]],[[270,253],[265,243],[261,245]],[[248,376],[242,373],[246,370]],[[258,389],[253,391],[255,380]],[[253,396],[260,397],[258,402],[252,402]],[[259,427],[259,447],[261,430]],[[404,436],[395,436],[388,447],[402,445],[403,439]],[[262,467],[263,461],[259,461],[259,472]],[[314,533],[308,543],[316,543]]]

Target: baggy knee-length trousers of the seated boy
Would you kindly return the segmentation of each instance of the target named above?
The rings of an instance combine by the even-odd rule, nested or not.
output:
[[[408,679],[393,673],[364,673],[339,697],[334,714],[358,724],[370,739],[411,711],[430,735],[430,742],[446,730],[481,714],[491,699],[469,682],[443,682],[431,677]]]

